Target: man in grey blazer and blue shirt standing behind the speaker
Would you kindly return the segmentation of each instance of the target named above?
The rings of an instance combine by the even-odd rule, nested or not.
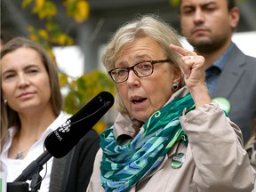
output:
[[[212,99],[226,108],[246,143],[256,116],[256,59],[241,52],[231,40],[239,17],[235,0],[180,0],[181,32],[204,56]]]

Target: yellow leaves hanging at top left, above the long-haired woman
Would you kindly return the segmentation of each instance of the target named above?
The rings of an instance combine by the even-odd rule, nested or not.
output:
[[[86,0],[63,0],[62,3],[66,8],[67,15],[76,20],[76,22],[81,23],[89,18],[90,5]],[[74,39],[72,36],[68,36],[68,34],[63,33],[59,24],[54,21],[58,9],[56,4],[54,4],[52,1],[23,0],[21,3],[21,8],[30,8],[30,12],[32,14],[36,15],[40,20],[45,21],[44,28],[37,29],[33,26],[29,26],[28,31],[30,32],[30,39],[43,44],[47,51],[51,52],[52,44],[74,44]]]

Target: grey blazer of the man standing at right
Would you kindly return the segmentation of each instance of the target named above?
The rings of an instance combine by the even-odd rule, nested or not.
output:
[[[256,118],[256,58],[244,55],[235,45],[212,92],[212,98],[215,97],[229,100],[228,116],[240,127],[246,143]]]

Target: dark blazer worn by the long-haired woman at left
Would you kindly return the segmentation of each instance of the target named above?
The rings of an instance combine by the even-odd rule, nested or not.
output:
[[[90,181],[100,137],[90,130],[67,156],[54,158],[49,192],[85,191]]]

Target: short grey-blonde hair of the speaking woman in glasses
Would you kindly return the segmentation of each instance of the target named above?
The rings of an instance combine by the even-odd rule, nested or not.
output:
[[[153,14],[137,15],[134,20],[125,23],[116,31],[109,40],[106,52],[102,56],[102,62],[107,70],[115,68],[115,61],[124,46],[144,36],[155,39],[163,48],[167,60],[172,61],[172,67],[174,66],[175,69],[180,71],[180,54],[170,49],[170,44],[181,46],[180,36],[166,21]],[[183,76],[179,88],[182,86],[184,86]],[[116,108],[121,113],[127,113],[118,92],[116,92]]]

